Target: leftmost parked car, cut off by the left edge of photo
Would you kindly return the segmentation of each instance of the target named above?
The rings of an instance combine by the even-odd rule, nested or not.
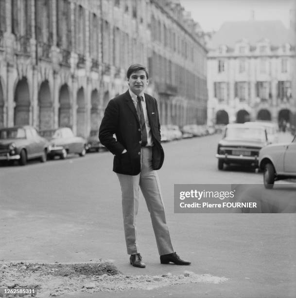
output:
[[[24,166],[30,159],[46,162],[49,142],[34,127],[16,126],[0,129],[0,161],[14,161]]]

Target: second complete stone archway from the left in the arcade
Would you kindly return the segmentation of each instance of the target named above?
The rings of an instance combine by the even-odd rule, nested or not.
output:
[[[53,109],[49,82],[42,82],[38,93],[39,105],[39,129],[48,130],[53,128]]]

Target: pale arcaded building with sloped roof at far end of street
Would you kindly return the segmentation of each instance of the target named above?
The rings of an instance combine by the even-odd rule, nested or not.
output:
[[[296,125],[295,37],[281,21],[224,23],[209,42],[208,123]]]

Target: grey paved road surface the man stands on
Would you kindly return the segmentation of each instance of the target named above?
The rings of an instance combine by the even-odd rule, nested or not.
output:
[[[176,183],[262,182],[262,174],[252,169],[217,170],[214,154],[219,138],[213,135],[164,144],[165,164],[158,172],[167,222],[175,250],[192,261],[190,267],[159,264],[143,199],[138,229],[147,267],[128,264],[120,188],[111,171],[109,152],[1,167],[1,259],[86,262],[107,258],[128,275],[190,270],[229,279],[216,285],[198,283],[90,297],[295,297],[295,214],[174,214]]]

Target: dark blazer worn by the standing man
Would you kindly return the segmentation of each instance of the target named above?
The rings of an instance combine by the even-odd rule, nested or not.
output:
[[[164,152],[160,145],[160,123],[157,101],[144,93],[152,139],[152,168],[161,168]],[[116,139],[113,137],[115,133]],[[129,91],[111,99],[105,109],[99,130],[100,142],[114,156],[113,171],[126,175],[138,175],[141,169],[141,130],[139,117]],[[122,154],[126,149],[127,152]]]

